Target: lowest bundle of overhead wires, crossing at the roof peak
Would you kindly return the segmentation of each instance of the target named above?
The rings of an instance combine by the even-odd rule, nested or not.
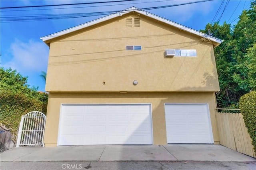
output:
[[[150,8],[142,8],[139,10],[152,10],[152,9],[159,9],[159,8],[167,8],[172,6],[181,6],[187,4],[194,4],[200,2],[207,2],[212,0],[203,0],[203,1],[196,1],[196,2],[187,2],[183,4],[173,4],[173,5],[166,5],[166,6],[158,6],[158,7],[150,7]],[[49,20],[49,19],[64,19],[64,18],[81,18],[81,17],[88,17],[88,16],[99,16],[99,15],[107,15],[113,14],[120,11],[107,11],[107,12],[90,12],[90,13],[76,13],[76,14],[48,14],[48,15],[41,15],[41,16],[18,16],[18,17],[2,17],[1,22],[24,22],[28,20]],[[127,11],[121,11],[127,12]]]

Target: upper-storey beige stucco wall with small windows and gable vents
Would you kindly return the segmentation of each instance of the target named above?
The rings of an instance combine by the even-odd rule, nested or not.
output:
[[[138,15],[47,42],[46,91],[219,91],[211,43],[143,15],[140,27],[126,27],[127,17]],[[127,51],[126,45],[142,50]],[[165,49],[196,49],[197,57],[165,57]]]

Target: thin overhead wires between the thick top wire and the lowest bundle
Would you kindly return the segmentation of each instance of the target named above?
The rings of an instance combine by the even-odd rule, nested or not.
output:
[[[138,1],[138,0],[137,0]],[[146,3],[155,3],[155,2],[166,2],[172,0],[159,0],[159,1],[150,1],[150,2],[138,2],[138,3],[126,3],[126,4],[111,4],[111,5],[97,5],[97,6],[77,6],[77,7],[67,7],[67,8],[46,8],[46,9],[30,9],[30,10],[8,10],[2,12],[13,12],[13,11],[34,11],[34,10],[59,10],[59,9],[72,9],[72,8],[91,8],[91,7],[102,7],[102,6],[117,6],[117,5],[129,5],[129,4],[146,4]]]

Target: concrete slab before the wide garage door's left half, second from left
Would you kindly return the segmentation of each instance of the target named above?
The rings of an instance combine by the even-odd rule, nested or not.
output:
[[[104,150],[105,146],[57,146],[39,149],[15,162],[20,161],[97,161]]]

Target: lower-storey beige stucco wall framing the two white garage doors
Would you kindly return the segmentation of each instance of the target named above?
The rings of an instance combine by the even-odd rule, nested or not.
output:
[[[61,104],[151,103],[153,141],[166,144],[164,103],[208,103],[214,143],[219,144],[214,93],[50,93],[44,136],[45,146],[57,146]]]

